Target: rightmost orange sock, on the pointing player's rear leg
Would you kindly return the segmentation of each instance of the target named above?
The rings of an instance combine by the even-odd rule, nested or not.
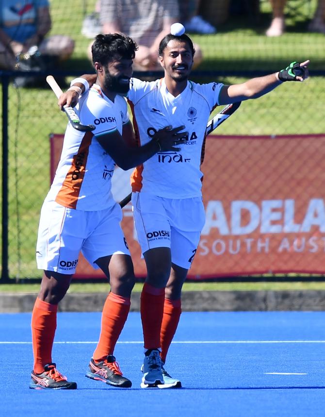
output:
[[[165,363],[167,352],[172,343],[174,334],[179,324],[179,317],[182,312],[179,300],[168,300],[165,298],[163,304],[162,330],[160,333],[160,342],[162,347],[161,357]]]

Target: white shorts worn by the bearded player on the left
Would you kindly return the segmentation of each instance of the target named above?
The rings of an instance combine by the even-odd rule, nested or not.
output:
[[[130,255],[121,220],[118,204],[106,210],[82,211],[45,201],[38,228],[37,267],[73,274],[80,251],[96,269],[94,262],[98,258],[117,253]]]

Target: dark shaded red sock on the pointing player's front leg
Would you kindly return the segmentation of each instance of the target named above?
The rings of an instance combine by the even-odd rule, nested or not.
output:
[[[144,284],[141,293],[140,313],[145,349],[160,348],[163,301],[165,289]]]

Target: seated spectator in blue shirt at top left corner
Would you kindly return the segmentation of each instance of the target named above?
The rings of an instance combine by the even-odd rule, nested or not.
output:
[[[65,35],[45,37],[51,28],[48,0],[5,0],[0,6],[0,69],[37,69],[32,55],[67,59],[74,41]],[[37,64],[36,64],[37,65]]]

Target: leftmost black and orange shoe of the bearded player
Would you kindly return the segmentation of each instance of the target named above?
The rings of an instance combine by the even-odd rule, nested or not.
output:
[[[77,384],[67,381],[66,377],[56,369],[55,364],[47,364],[41,374],[35,374],[32,371],[29,387],[32,389],[77,389]]]

